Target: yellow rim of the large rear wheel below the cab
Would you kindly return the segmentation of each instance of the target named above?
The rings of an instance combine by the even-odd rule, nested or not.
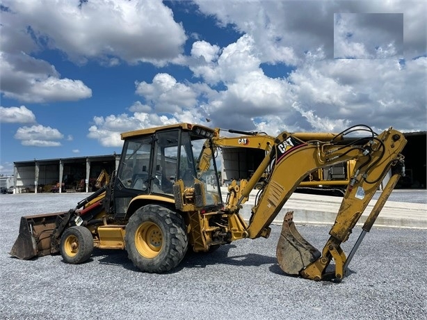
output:
[[[154,258],[159,255],[163,246],[163,233],[159,226],[150,221],[141,223],[135,232],[135,246],[143,257]]]

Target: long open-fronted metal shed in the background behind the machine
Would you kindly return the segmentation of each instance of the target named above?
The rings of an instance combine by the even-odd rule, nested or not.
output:
[[[426,131],[404,135],[408,140],[403,150],[406,176],[399,179],[396,188],[426,189]],[[264,159],[264,150],[224,147],[221,158],[223,179],[247,179]],[[119,161],[120,154],[17,161],[14,163],[14,192],[95,191],[102,170],[111,175]]]

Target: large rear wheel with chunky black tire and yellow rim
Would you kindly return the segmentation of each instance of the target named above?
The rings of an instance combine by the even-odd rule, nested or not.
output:
[[[174,269],[186,254],[188,237],[182,216],[159,205],[147,205],[129,218],[124,236],[131,262],[140,271]]]

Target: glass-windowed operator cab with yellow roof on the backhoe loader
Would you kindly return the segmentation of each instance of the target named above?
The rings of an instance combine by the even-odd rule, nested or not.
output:
[[[157,195],[160,201],[172,203],[173,185],[179,179],[184,182],[184,188],[202,182],[206,191],[205,207],[223,207],[213,150],[209,168],[198,168],[204,142],[213,134],[213,129],[190,124],[122,134],[124,145],[113,188],[115,214],[124,216],[131,200],[140,195]]]

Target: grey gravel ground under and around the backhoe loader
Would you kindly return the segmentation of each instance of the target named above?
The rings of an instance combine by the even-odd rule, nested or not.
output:
[[[8,255],[21,216],[67,211],[83,196],[1,195],[0,319],[427,319],[426,230],[374,226],[340,283],[283,275],[277,225],[269,239],[188,254],[162,275],[140,273],[122,250],[95,250],[80,265]],[[298,230],[318,248],[328,239],[329,227]]]

